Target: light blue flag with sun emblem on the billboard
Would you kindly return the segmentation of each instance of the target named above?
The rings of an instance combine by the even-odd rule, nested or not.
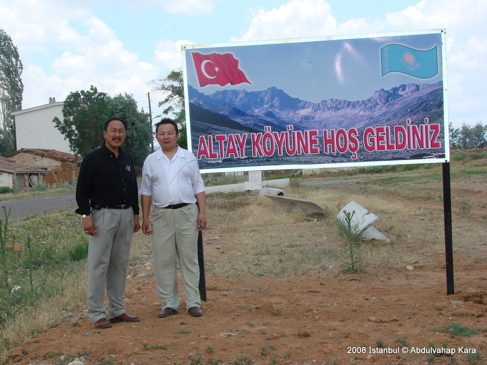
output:
[[[419,78],[430,78],[438,73],[436,46],[419,51],[400,44],[388,44],[380,50],[382,76],[402,72]]]

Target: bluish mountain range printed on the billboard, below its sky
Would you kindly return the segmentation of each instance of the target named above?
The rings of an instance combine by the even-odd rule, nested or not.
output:
[[[263,91],[225,90],[215,91],[210,95],[195,90],[188,85],[188,99],[191,116],[192,146],[198,146],[199,135],[228,135],[229,133],[259,133],[264,127],[282,132],[286,126],[294,129],[331,130],[352,128],[358,130],[358,140],[363,139],[366,128],[375,126],[407,126],[407,119],[412,123],[423,123],[428,118],[435,123],[443,124],[443,83],[436,84],[403,84],[390,90],[375,91],[366,100],[348,101],[338,99],[323,100],[312,103],[292,98],[275,87]],[[392,138],[394,139],[394,137]],[[227,158],[219,156],[215,161],[200,160],[201,168],[226,167],[238,165],[268,164],[321,164],[330,162],[356,162],[350,153],[339,151],[325,154],[323,136],[318,135],[319,154],[272,156],[257,159],[252,157],[251,145],[246,146],[246,157]],[[441,130],[436,138],[443,145],[444,135]],[[216,141],[215,141],[216,142]],[[215,150],[218,146],[215,144]],[[193,151],[195,152],[195,151]],[[196,153],[196,152],[195,152]],[[367,151],[365,147],[357,151],[359,161],[378,161],[379,159],[415,159],[438,155],[435,149],[422,149],[421,155],[412,150],[406,156],[402,150],[387,151],[378,154]],[[401,157],[398,157],[401,155]],[[442,155],[442,154],[440,154]],[[222,161],[225,160],[226,161]]]

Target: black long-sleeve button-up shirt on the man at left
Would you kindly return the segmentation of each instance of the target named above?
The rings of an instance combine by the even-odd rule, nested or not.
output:
[[[118,148],[118,158],[103,144],[88,153],[79,169],[76,185],[78,214],[90,214],[90,202],[100,205],[132,204],[139,214],[137,180],[131,156]]]

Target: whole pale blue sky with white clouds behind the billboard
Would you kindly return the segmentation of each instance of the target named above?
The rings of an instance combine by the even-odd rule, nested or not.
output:
[[[183,44],[447,30],[450,121],[487,122],[485,0],[0,0],[24,65],[23,108],[91,84],[132,93],[181,67]],[[153,115],[160,113],[152,93]]]

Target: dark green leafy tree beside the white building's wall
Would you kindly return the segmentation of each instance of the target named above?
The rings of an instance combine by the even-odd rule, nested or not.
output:
[[[84,157],[103,143],[105,120],[115,114],[107,97],[107,93],[98,92],[93,85],[90,90],[72,91],[64,101],[63,120],[53,119],[75,154]]]

